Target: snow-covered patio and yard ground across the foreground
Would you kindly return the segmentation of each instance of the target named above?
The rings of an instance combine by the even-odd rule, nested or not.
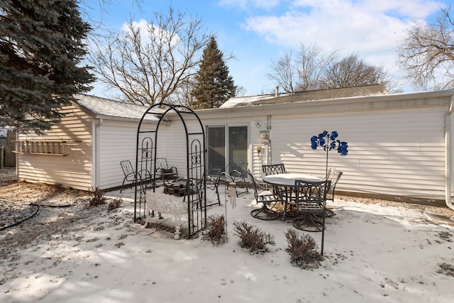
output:
[[[213,190],[206,192],[216,201]],[[328,203],[336,216],[326,220],[325,260],[320,268],[301,270],[285,251],[284,233],[292,224],[250,216],[260,207],[252,193],[233,206],[220,187],[222,205],[210,206],[208,214],[226,216],[222,246],[200,237],[175,240],[133,223],[132,194],[106,193],[123,200],[112,211],[106,205],[77,206],[74,213],[72,207],[43,208],[2,231],[0,301],[449,302],[454,296],[453,221],[433,221],[436,213],[428,207],[335,199]],[[172,216],[163,216],[172,223]],[[235,221],[272,233],[275,246],[265,255],[243,251]],[[320,233],[311,236],[319,243]]]

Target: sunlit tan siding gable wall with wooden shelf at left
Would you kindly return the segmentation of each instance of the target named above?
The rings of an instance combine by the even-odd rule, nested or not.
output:
[[[65,106],[67,115],[52,126],[45,136],[35,133],[19,134],[18,140],[74,141],[65,146],[67,155],[18,154],[18,180],[63,184],[75,189],[92,187],[92,124],[91,116],[76,106]]]

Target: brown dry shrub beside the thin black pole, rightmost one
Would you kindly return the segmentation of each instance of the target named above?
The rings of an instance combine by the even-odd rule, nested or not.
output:
[[[290,255],[290,262],[299,268],[319,268],[323,255],[317,250],[317,244],[309,235],[299,236],[294,229],[289,229],[285,233],[287,243],[289,244],[286,251]]]

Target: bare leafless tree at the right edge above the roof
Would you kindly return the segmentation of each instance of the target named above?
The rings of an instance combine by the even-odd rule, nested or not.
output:
[[[454,21],[451,7],[433,24],[416,23],[397,48],[399,65],[420,89],[454,87]]]

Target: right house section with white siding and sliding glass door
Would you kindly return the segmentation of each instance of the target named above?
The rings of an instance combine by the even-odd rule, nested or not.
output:
[[[265,104],[257,97],[249,103],[248,97],[233,98],[220,109],[197,114],[206,127],[225,126],[226,133],[230,126],[248,127],[247,162],[256,177],[261,177],[262,164],[279,162],[289,172],[323,177],[326,153],[313,150],[310,138],[338,131],[349,153],[328,153],[328,167],[344,173],[336,191],[450,203],[454,90],[304,101],[293,97],[289,103],[279,98],[267,96]],[[264,131],[269,142],[260,141]]]

